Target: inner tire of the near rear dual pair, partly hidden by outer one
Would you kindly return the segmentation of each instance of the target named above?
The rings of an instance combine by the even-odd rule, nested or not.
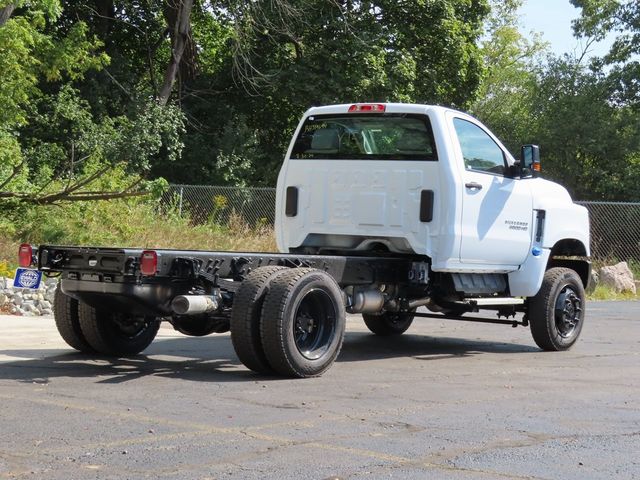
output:
[[[234,295],[231,309],[231,342],[240,361],[257,373],[273,373],[262,348],[260,315],[271,280],[286,267],[253,270]]]

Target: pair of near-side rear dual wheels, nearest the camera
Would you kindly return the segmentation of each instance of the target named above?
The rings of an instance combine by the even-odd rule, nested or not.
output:
[[[314,377],[333,365],[345,322],[342,291],[326,272],[261,267],[236,292],[231,340],[251,370]]]

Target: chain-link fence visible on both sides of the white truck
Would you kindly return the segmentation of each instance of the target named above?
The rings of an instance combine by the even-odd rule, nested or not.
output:
[[[591,255],[599,262],[640,263],[640,203],[578,202],[591,218]],[[171,185],[162,205],[194,223],[225,224],[239,217],[249,225],[273,224],[275,188]]]

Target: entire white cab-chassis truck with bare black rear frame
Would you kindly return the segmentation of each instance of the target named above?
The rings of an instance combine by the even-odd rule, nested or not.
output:
[[[449,108],[312,108],[278,177],[280,253],[24,244],[20,264],[60,276],[56,325],[85,353],[137,354],[168,321],[230,330],[256,372],[317,376],[346,313],[377,335],[419,317],[530,325],[540,348],[565,350],[584,322],[589,218],[539,171],[538,147],[515,160]]]

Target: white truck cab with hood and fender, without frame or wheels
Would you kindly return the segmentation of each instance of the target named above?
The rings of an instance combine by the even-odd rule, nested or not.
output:
[[[552,254],[589,255],[587,210],[450,108],[311,108],[277,192],[282,252],[422,255],[433,272],[506,275],[512,296],[538,291]],[[586,284],[587,266],[577,269]]]

